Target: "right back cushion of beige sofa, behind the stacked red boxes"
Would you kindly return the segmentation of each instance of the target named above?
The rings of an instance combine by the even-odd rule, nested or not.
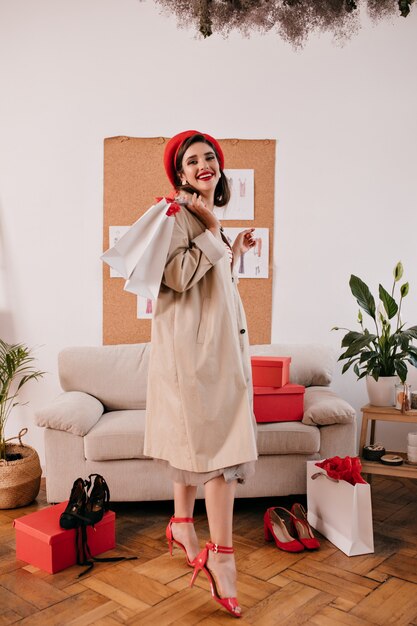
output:
[[[296,385],[330,385],[336,362],[332,348],[323,344],[272,343],[250,346],[251,355],[290,356],[290,383]]]

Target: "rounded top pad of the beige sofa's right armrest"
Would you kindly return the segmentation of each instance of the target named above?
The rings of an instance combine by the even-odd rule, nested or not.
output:
[[[331,389],[326,387],[306,389],[303,424],[317,426],[350,424],[355,419],[355,409]]]

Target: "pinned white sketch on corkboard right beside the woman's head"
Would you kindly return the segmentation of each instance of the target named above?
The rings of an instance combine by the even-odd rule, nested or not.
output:
[[[219,220],[253,220],[254,170],[224,170],[229,182],[231,198],[224,207],[215,207]]]

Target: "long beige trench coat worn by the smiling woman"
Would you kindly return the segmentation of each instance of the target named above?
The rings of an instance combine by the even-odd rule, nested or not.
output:
[[[144,453],[209,472],[257,458],[246,318],[223,242],[182,208],[152,322]]]

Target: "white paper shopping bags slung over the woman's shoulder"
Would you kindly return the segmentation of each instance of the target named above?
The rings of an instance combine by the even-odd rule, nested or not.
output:
[[[162,198],[100,257],[126,278],[125,291],[156,300],[179,205]]]

